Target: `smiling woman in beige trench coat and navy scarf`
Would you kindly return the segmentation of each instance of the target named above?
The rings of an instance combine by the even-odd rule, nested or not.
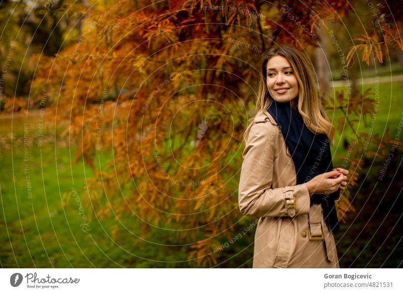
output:
[[[348,171],[333,169],[334,129],[308,59],[272,48],[261,65],[244,139],[239,208],[258,217],[253,267],[339,268],[335,200]]]

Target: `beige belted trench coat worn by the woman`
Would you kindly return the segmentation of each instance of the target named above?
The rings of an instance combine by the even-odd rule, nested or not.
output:
[[[323,222],[323,210],[318,204],[309,207],[306,183],[296,184],[294,162],[280,127],[267,111],[252,123],[242,154],[239,208],[243,214],[259,218],[253,267],[339,268],[333,235]],[[286,197],[295,199],[285,201]],[[308,219],[313,222],[314,210],[320,218],[317,224],[319,231],[321,224],[324,240],[309,239],[308,229],[312,226],[309,232],[313,231],[313,225]]]

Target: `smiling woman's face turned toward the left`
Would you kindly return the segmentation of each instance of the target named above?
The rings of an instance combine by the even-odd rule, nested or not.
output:
[[[298,96],[298,81],[287,58],[274,56],[268,60],[266,68],[267,89],[275,101],[290,102]]]

